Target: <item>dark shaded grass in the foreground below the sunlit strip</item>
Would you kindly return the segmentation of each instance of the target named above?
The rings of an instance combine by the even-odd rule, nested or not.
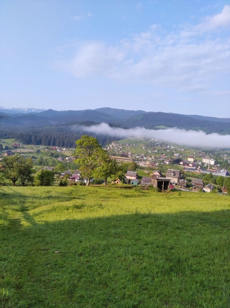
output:
[[[28,226],[4,214],[0,305],[227,307],[229,214],[135,213],[38,224],[27,213]]]

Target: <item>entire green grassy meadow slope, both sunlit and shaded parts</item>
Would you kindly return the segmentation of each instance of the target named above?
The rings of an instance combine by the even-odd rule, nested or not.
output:
[[[204,193],[0,188],[0,307],[228,307],[229,204]]]

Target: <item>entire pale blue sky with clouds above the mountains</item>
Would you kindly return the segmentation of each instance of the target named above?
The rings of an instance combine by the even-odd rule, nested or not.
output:
[[[230,1],[0,6],[0,106],[230,117]]]

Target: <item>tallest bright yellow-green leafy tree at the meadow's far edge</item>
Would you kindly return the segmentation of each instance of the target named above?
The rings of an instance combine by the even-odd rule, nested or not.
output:
[[[75,162],[79,164],[81,175],[86,177],[87,186],[89,186],[90,179],[94,176],[95,169],[98,167],[99,158],[103,150],[96,138],[84,135],[76,141],[76,157]]]

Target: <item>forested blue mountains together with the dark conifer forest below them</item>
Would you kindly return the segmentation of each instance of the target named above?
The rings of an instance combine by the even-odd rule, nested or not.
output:
[[[199,115],[180,115],[165,112],[145,112],[142,110],[124,110],[98,108],[95,110],[55,111],[26,114],[0,112],[0,137],[15,138],[23,144],[42,144],[53,146],[74,146],[74,141],[84,131],[82,125],[101,122],[122,128],[136,126],[157,129],[156,126],[177,127],[186,130],[202,130],[206,133],[230,134],[230,119],[204,117]],[[89,134],[89,133],[87,133]],[[96,136],[90,133],[91,136]],[[105,135],[97,136],[101,143],[116,138]]]

